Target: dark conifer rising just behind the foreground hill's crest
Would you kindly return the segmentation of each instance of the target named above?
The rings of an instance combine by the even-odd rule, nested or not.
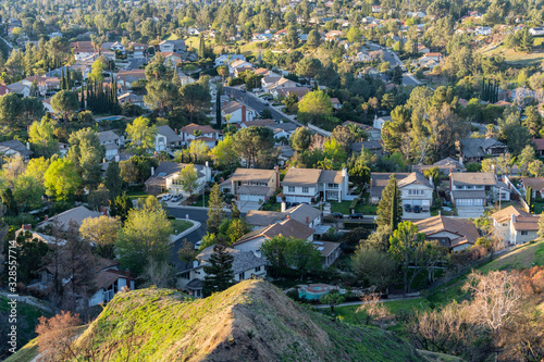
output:
[[[234,257],[226,251],[222,244],[213,246],[213,253],[209,259],[209,264],[203,267],[206,273],[202,282],[202,296],[209,297],[212,292],[223,291],[233,285]]]

